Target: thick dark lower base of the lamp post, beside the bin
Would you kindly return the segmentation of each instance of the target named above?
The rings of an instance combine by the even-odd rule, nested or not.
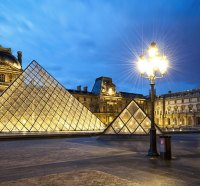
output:
[[[156,129],[150,129],[150,149],[148,151],[148,156],[155,157],[159,156],[157,152],[157,144],[156,144]]]

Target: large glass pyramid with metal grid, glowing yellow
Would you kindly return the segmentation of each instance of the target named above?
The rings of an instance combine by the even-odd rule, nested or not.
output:
[[[36,61],[0,96],[0,132],[102,132],[105,125]]]

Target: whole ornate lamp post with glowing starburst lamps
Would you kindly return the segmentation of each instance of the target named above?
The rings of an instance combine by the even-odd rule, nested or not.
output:
[[[147,54],[142,54],[137,62],[138,70],[142,77],[150,80],[151,86],[151,128],[150,128],[150,149],[148,156],[158,156],[156,147],[156,128],[154,123],[154,99],[155,80],[162,78],[167,72],[168,60],[165,55],[161,55],[155,42],[151,43]]]

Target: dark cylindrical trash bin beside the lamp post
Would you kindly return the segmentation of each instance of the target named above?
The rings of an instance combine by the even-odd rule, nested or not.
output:
[[[160,136],[160,157],[171,160],[171,136]]]

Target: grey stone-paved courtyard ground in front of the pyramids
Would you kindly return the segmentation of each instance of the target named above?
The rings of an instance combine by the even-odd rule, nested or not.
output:
[[[172,135],[170,161],[148,147],[148,136],[1,140],[0,185],[200,185],[200,134]]]

